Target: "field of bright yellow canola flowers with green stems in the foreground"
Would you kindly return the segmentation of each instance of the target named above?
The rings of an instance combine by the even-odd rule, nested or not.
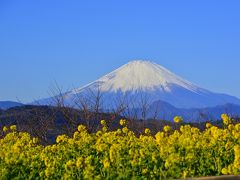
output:
[[[72,137],[60,135],[43,146],[16,126],[4,127],[0,139],[0,179],[172,179],[240,174],[240,124],[222,115],[224,128],[206,123],[165,126],[136,136],[120,120],[121,129],[97,133],[83,125]],[[181,123],[181,117],[174,119]]]

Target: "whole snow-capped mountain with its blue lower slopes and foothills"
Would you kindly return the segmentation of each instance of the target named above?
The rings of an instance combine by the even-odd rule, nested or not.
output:
[[[175,115],[219,118],[227,111],[238,114],[235,110],[240,105],[236,97],[198,87],[150,61],[131,61],[86,86],[34,103],[56,105],[53,99],[58,103],[61,99],[68,107],[119,111],[141,119],[171,119]]]

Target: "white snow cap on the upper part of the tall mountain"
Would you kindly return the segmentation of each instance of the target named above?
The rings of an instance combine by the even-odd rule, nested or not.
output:
[[[131,61],[117,70],[87,85],[98,84],[102,92],[129,92],[161,89],[171,92],[170,85],[176,84],[191,91],[198,88],[192,83],[173,74],[166,68],[151,61]],[[86,87],[78,89],[81,91]]]

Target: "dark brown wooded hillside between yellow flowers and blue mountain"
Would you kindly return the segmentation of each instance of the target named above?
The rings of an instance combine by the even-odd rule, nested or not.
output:
[[[190,124],[204,130],[206,122],[199,123],[182,123],[175,124],[173,121],[166,120],[139,120],[128,119],[114,113],[96,113],[86,112],[67,108],[53,106],[22,106],[8,110],[0,111],[0,128],[4,126],[17,125],[19,131],[30,133],[34,137],[38,137],[43,144],[54,143],[60,134],[71,136],[79,124],[87,127],[88,131],[94,133],[101,129],[100,121],[104,119],[107,122],[109,130],[120,128],[119,120],[127,119],[128,128],[137,135],[144,132],[145,128],[149,128],[154,135],[158,131],[162,131],[165,125],[170,125],[173,129],[177,129],[182,124]],[[235,119],[234,122],[240,122]],[[221,121],[211,122],[213,125],[222,127]],[[3,132],[0,132],[0,136]]]

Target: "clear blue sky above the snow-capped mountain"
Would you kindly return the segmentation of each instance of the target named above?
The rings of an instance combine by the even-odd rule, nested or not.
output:
[[[239,0],[1,0],[0,100],[47,97],[132,59],[240,97]]]

